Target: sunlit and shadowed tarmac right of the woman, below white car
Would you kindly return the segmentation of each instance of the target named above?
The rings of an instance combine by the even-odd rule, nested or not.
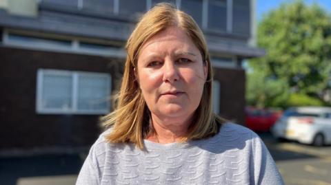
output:
[[[331,185],[331,145],[312,146],[259,134],[288,185]]]

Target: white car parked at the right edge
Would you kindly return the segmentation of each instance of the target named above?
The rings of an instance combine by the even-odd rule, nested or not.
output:
[[[303,144],[331,144],[331,107],[287,109],[271,129],[274,138]]]

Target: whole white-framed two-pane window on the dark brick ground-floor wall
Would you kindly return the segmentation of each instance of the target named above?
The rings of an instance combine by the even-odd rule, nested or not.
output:
[[[37,113],[108,113],[109,74],[39,69]]]

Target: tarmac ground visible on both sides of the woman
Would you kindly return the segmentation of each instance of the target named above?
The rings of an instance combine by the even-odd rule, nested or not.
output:
[[[259,133],[288,185],[331,185],[331,146],[277,142]],[[87,152],[87,151],[86,151]],[[72,185],[86,153],[0,157],[1,185]]]

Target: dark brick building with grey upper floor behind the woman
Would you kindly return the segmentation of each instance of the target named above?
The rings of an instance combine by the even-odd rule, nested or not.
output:
[[[123,46],[155,0],[0,1],[0,151],[90,146],[112,110]],[[255,0],[172,0],[200,25],[214,69],[214,111],[243,123]]]

